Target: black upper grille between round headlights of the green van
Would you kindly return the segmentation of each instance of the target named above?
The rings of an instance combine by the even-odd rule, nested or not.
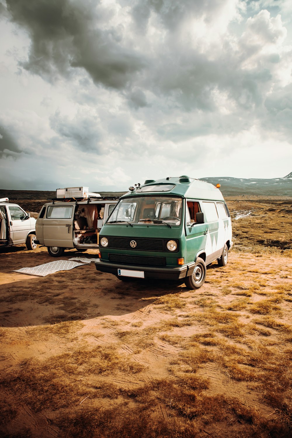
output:
[[[111,249],[125,249],[134,251],[163,251],[163,239],[144,238],[144,237],[121,237],[121,236],[109,236],[108,248]],[[137,246],[132,248],[130,246],[131,240],[135,240]]]

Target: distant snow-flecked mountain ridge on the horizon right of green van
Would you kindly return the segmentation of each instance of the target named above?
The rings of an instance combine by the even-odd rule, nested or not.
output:
[[[292,172],[285,177],[261,179],[261,178],[231,178],[231,177],[208,177],[200,178],[211,184],[221,184],[220,190],[224,196],[232,195],[265,195],[265,196],[292,196]]]

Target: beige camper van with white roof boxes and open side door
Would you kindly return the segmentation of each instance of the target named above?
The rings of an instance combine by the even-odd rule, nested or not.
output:
[[[88,187],[57,189],[36,220],[37,241],[52,257],[60,257],[66,248],[98,248],[99,231],[118,199],[90,193]]]

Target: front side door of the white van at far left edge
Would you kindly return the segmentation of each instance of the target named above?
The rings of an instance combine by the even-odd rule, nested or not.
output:
[[[22,244],[26,240],[31,223],[27,214],[22,208],[8,205],[10,239],[14,244]]]

